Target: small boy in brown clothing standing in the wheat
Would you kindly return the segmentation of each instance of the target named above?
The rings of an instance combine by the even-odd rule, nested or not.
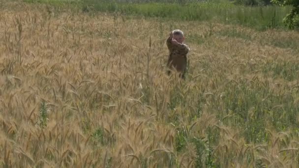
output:
[[[185,79],[185,71],[187,68],[187,54],[189,47],[183,43],[185,40],[184,34],[181,30],[176,29],[170,32],[169,37],[166,40],[166,44],[169,50],[169,57],[167,61],[168,75],[171,70],[175,68],[179,72],[179,77]]]

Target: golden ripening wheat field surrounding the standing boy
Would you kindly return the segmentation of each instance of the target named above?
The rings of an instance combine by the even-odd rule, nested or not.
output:
[[[0,5],[3,168],[296,168],[299,33]],[[167,76],[182,29],[186,80]]]

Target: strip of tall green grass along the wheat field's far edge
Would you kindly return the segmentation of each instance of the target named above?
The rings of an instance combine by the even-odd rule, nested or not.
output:
[[[32,0],[27,0],[32,1]],[[240,6],[226,1],[110,1],[110,0],[39,0],[52,4],[77,4],[84,11],[119,12],[122,15],[161,17],[178,21],[214,21],[225,24],[238,24],[265,30],[284,28],[282,19],[291,7],[285,6]]]

